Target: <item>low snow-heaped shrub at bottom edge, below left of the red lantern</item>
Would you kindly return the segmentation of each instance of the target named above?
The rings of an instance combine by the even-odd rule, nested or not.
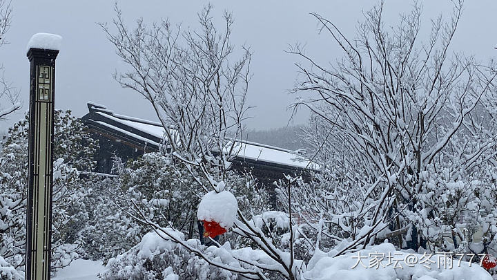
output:
[[[174,234],[184,240],[182,233]],[[186,242],[192,248],[215,257],[215,249],[204,248],[197,239]],[[174,279],[175,276],[179,279],[237,279],[235,274],[209,265],[182,245],[155,232],[145,234],[142,241],[128,252],[110,259],[106,272],[100,275],[106,280]]]

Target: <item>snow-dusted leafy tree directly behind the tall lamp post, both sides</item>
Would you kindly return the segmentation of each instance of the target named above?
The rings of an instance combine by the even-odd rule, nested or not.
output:
[[[55,120],[52,268],[59,268],[82,253],[90,178],[81,179],[77,168],[92,169],[97,142],[70,111],[56,111]],[[9,129],[0,153],[0,256],[18,270],[23,269],[26,250],[28,122],[26,116]]]

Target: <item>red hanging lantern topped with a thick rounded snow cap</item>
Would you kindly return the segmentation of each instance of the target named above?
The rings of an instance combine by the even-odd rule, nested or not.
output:
[[[204,222],[204,237],[214,238],[224,234],[233,226],[238,211],[238,203],[231,194],[224,189],[224,183],[217,184],[216,189],[221,192],[211,191],[200,200],[197,218]]]

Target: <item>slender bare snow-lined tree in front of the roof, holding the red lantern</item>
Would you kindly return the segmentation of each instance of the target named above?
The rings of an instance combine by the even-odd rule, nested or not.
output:
[[[147,27],[142,19],[129,30],[121,11],[114,20],[115,31],[102,28],[115,46],[117,55],[128,65],[116,79],[146,97],[162,122],[166,137],[162,153],[171,153],[182,162],[206,192],[222,192],[233,186],[224,182],[230,161],[240,145],[242,121],[245,118],[246,93],[249,85],[251,53],[231,45],[233,17],[224,14],[224,26],[214,24],[211,6],[199,12],[200,30],[182,30],[164,20]],[[236,57],[237,54],[240,56]],[[207,263],[243,275],[249,279],[266,279],[266,274],[280,274],[295,279],[302,261],[294,261],[293,249],[284,252],[275,247],[271,235],[262,230],[239,209],[233,232],[250,241],[266,258],[256,254],[237,254],[228,245],[224,250],[234,263],[211,258],[193,248],[147,216],[132,200],[129,214],[155,232],[168,236]],[[133,210],[132,210],[133,209]],[[173,227],[173,225],[169,225]],[[268,265],[271,263],[271,265]]]

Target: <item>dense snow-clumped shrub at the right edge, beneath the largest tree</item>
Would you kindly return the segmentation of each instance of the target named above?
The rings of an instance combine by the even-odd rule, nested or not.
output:
[[[425,175],[420,209],[407,209],[405,217],[420,229],[426,249],[497,255],[496,168],[468,173],[452,167]]]

